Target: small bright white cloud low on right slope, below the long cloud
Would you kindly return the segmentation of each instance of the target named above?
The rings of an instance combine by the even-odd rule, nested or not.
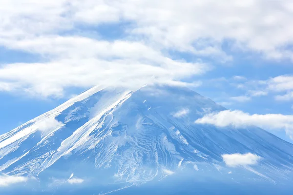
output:
[[[225,154],[222,155],[224,162],[229,167],[237,167],[237,166],[248,166],[255,165],[261,159],[260,156],[247,153],[247,154]]]

